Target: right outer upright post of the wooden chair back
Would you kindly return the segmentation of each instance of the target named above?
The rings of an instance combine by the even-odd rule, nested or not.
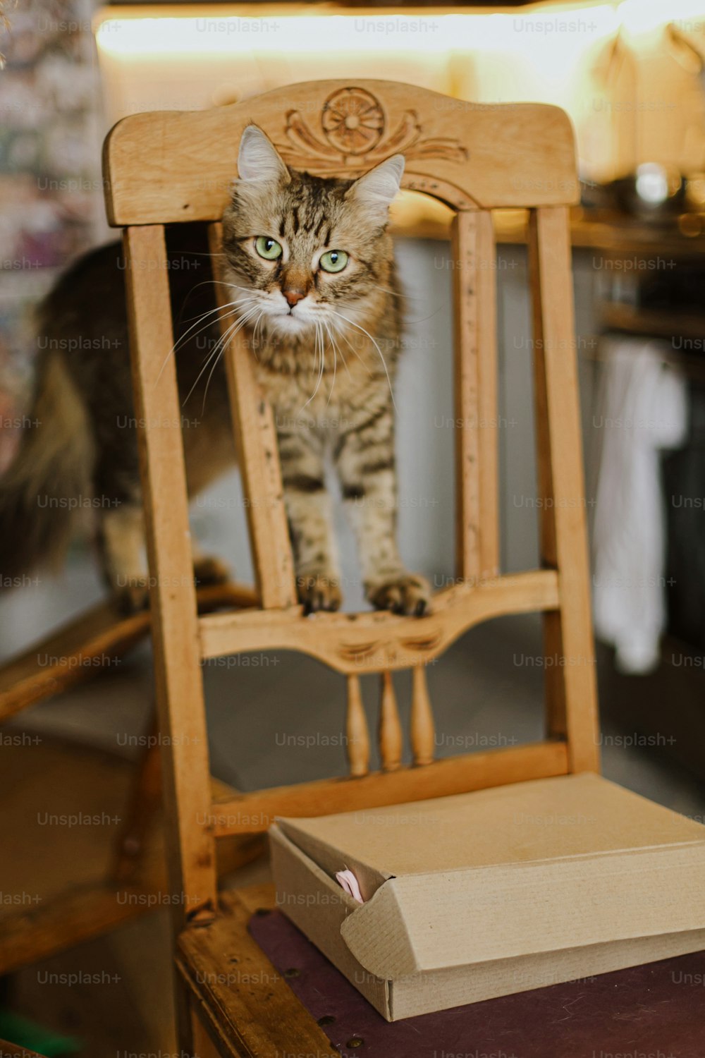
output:
[[[534,212],[530,245],[538,479],[544,498],[540,539],[543,561],[558,569],[560,591],[560,613],[544,626],[544,650],[553,660],[546,667],[549,729],[568,737],[572,771],[597,771],[599,729],[568,211]]]

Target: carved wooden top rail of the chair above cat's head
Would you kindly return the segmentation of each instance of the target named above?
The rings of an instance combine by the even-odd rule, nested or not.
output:
[[[320,114],[335,92],[351,86],[371,93],[383,114],[376,148],[407,156],[403,186],[426,190],[454,208],[548,205],[578,201],[573,132],[562,110],[542,104],[477,107],[424,88],[387,80],[312,80],[214,110],[159,111],[125,117],[104,150],[109,222],[151,224],[220,220],[237,176],[238,144],[251,122],[282,149],[292,147],[287,115],[298,111],[322,144],[301,152],[298,167],[342,175],[344,156],[331,152]],[[414,132],[414,126],[418,130]],[[400,129],[412,130],[409,136]],[[433,143],[440,143],[434,149]],[[294,152],[286,160],[295,168]],[[379,161],[370,152],[367,168]],[[357,161],[348,157],[348,167]]]

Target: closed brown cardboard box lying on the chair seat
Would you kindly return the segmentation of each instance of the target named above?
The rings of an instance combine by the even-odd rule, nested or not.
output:
[[[597,776],[270,835],[279,908],[388,1021],[705,947],[705,826]]]

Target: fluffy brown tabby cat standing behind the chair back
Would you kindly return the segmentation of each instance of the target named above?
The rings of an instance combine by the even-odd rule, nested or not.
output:
[[[403,170],[400,154],[355,181],[291,170],[249,125],[223,216],[228,325],[244,328],[274,408],[308,610],[341,602],[327,451],[355,527],[367,598],[403,614],[428,605],[427,582],[406,570],[395,541],[392,383],[402,311],[387,221]],[[202,229],[173,225],[167,249],[193,496],[233,466],[235,451]],[[94,251],[41,307],[36,426],[0,481],[0,572],[7,583],[58,557],[75,512],[88,507],[97,515],[105,577],[134,608],[146,603],[147,578],[124,269],[117,243]],[[217,559],[196,551],[194,572],[201,583],[226,576]]]

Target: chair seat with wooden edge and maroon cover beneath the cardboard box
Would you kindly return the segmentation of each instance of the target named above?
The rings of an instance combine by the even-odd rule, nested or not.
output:
[[[624,1052],[628,1025],[632,1054],[702,1058],[705,990],[684,985],[705,980],[705,952],[389,1024],[280,912],[268,914],[274,904],[271,886],[228,893],[221,916],[179,940],[179,969],[221,1054],[594,1058]]]

